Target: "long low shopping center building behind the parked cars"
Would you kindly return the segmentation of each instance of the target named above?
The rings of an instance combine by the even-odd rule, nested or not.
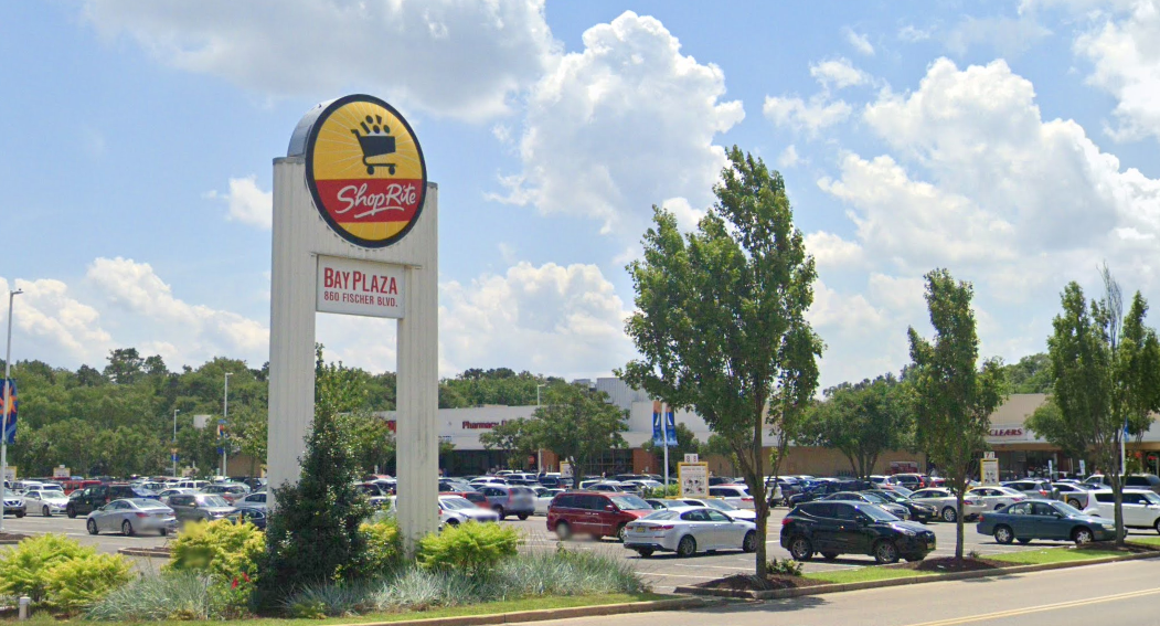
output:
[[[661,461],[641,449],[645,441],[652,439],[653,401],[647,394],[630,388],[619,379],[607,377],[595,381],[579,381],[589,384],[594,390],[608,394],[609,401],[628,411],[628,431],[623,433],[628,444],[622,449],[614,449],[597,459],[586,472],[590,474],[617,473],[662,473]],[[1000,472],[1007,476],[1025,476],[1029,473],[1043,474],[1047,462],[1056,472],[1079,473],[1079,460],[1070,459],[1059,448],[1043,440],[1027,427],[1025,422],[1046,400],[1043,394],[1016,394],[1010,396],[991,417],[991,434],[987,442],[999,459]],[[530,406],[473,406],[467,409],[441,409],[438,411],[440,439],[452,444],[454,451],[444,455],[441,469],[448,475],[483,474],[507,465],[503,451],[487,451],[479,441],[479,436],[503,422],[525,419],[532,416],[535,405]],[[384,419],[393,420],[392,412],[380,413]],[[676,422],[684,424],[698,441],[706,441],[712,432],[699,416],[691,411],[676,411]],[[774,438],[767,436],[766,445],[773,446]],[[769,448],[767,447],[767,453]],[[1129,441],[1128,453],[1152,467],[1160,467],[1160,424],[1153,423],[1145,433],[1143,441]],[[559,469],[559,460],[551,451],[542,454],[545,472]],[[724,458],[705,459],[710,469],[718,475],[735,475]],[[535,470],[541,462],[536,455],[529,456],[523,467],[512,469]],[[875,473],[889,474],[897,472],[927,472],[927,460],[922,454],[902,451],[887,452],[878,459]],[[1093,473],[1096,468],[1085,468]],[[782,474],[810,474],[815,476],[849,475],[849,461],[834,449],[791,446],[781,469]]]

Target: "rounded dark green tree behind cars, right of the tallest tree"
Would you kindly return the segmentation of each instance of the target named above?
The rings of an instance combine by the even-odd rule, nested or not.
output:
[[[906,389],[893,375],[842,383],[824,394],[825,401],[806,412],[799,441],[841,452],[860,479],[870,477],[883,452],[912,445]]]

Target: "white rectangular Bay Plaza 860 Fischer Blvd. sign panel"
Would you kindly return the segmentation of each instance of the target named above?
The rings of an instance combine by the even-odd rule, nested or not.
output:
[[[401,319],[405,274],[401,265],[319,256],[316,309]]]

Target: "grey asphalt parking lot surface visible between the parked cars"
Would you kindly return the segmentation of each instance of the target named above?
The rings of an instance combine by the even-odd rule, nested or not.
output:
[[[785,509],[775,509],[769,519],[769,538],[767,542],[770,559],[788,559],[789,552],[778,545],[778,533],[782,527],[782,518],[785,517]],[[508,524],[524,534],[525,549],[556,549],[558,540],[554,534],[549,533],[545,520],[542,516],[534,516],[524,521],[510,518],[501,524]],[[952,556],[955,554],[955,525],[945,523],[931,523],[928,525],[937,537],[938,547],[931,557]],[[5,519],[5,530],[22,533],[64,533],[67,537],[80,540],[81,544],[96,546],[101,552],[116,553],[125,547],[158,547],[165,546],[171,538],[157,535],[123,537],[119,534],[106,533],[96,537],[89,535],[85,530],[85,519],[68,519],[67,517],[43,518],[38,516],[27,516],[23,519]],[[965,552],[976,551],[980,555],[1005,554],[1025,549],[1039,549],[1052,546],[1067,546],[1068,542],[1057,541],[1032,541],[1028,546],[1013,544],[1002,546],[991,537],[980,535],[974,531],[974,523],[967,523],[964,527],[966,544]],[[1132,534],[1141,537],[1154,535],[1154,532],[1132,531]],[[612,539],[594,541],[592,539],[574,539],[566,542],[570,549],[600,551],[604,554],[625,559],[632,567],[643,574],[658,591],[670,591],[674,587],[696,584],[699,582],[728,576],[732,574],[748,574],[753,571],[753,555],[740,551],[719,552],[716,554],[698,554],[690,559],[677,559],[673,554],[658,553],[651,559],[641,559],[636,552],[625,549]],[[138,567],[160,567],[159,559],[137,559]],[[805,563],[805,571],[825,571],[839,569],[853,569],[861,567],[876,567],[873,557],[858,555],[843,555],[842,557],[826,562],[820,559]]]

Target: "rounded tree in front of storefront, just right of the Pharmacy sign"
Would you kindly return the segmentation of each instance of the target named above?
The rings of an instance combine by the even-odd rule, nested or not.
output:
[[[537,447],[554,452],[572,463],[573,484],[604,452],[625,446],[628,412],[608,402],[608,394],[582,384],[553,384],[525,426]]]

